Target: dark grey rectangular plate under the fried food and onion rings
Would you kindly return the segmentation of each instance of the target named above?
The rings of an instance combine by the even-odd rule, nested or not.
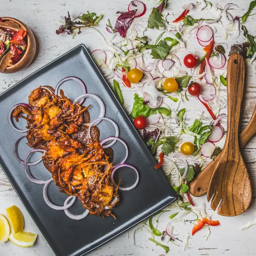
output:
[[[103,100],[106,106],[105,116],[116,122],[119,127],[119,137],[126,141],[129,148],[129,157],[126,163],[137,167],[140,174],[140,181],[136,188],[121,192],[122,200],[113,210],[116,220],[112,217],[101,218],[89,214],[85,219],[76,221],[69,219],[64,211],[51,209],[44,202],[43,185],[29,181],[23,165],[17,162],[13,155],[13,144],[22,133],[14,131],[9,126],[7,122],[9,110],[17,103],[27,103],[28,95],[32,89],[39,85],[55,87],[62,78],[67,76],[81,78],[87,86],[87,92],[96,94]],[[62,88],[67,97],[74,100],[81,94],[79,85],[75,81],[65,83]],[[96,118],[99,108],[95,102],[91,102],[93,107],[89,109],[89,112],[91,117]],[[134,128],[130,118],[84,45],[78,45],[2,93],[0,95],[0,110],[1,167],[57,256],[84,255],[175,201],[176,193],[164,173],[154,168],[156,164],[154,157],[150,154],[140,134]],[[20,123],[18,127],[21,127]],[[111,124],[106,124],[107,121],[98,126],[102,138],[109,135],[107,134],[110,131],[108,127]],[[18,147],[23,159],[30,150],[25,143],[26,139],[22,140]],[[116,146],[113,145],[112,148],[114,156],[121,159],[121,153],[118,154],[117,152],[123,154],[124,149],[122,144],[119,144],[116,143]],[[37,178],[50,178],[50,173],[45,169],[42,162],[30,166],[30,170]],[[129,184],[134,181],[132,169],[121,171],[119,176],[121,179],[123,176],[128,183],[130,180]],[[67,195],[59,192],[53,182],[48,188],[48,194],[51,201],[57,205],[63,205],[67,197]],[[74,214],[80,214],[84,211],[80,202],[71,208],[70,211]]]

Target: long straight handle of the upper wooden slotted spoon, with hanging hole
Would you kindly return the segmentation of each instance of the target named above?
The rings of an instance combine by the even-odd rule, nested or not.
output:
[[[239,154],[238,127],[244,87],[244,60],[241,54],[231,54],[227,63],[227,137],[223,153],[227,150],[227,160],[237,160]],[[230,146],[232,148],[230,148]]]

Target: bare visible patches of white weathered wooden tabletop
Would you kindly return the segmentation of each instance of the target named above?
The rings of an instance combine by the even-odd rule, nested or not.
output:
[[[107,38],[111,39],[112,35],[108,34],[105,30],[105,24],[109,18],[114,26],[117,15],[117,11],[126,11],[129,4],[129,0],[84,0],[84,1],[64,1],[64,0],[0,0],[1,14],[2,16],[15,17],[17,19],[25,22],[34,32],[34,35],[37,39],[38,53],[34,62],[25,70],[11,75],[0,74],[0,93],[4,92],[8,87],[13,86],[16,82],[25,78],[38,68],[44,66],[48,62],[59,57],[69,49],[75,47],[80,43],[84,43],[90,50],[97,48],[104,49],[106,45],[102,42],[101,38],[95,34],[92,30],[84,30],[82,34],[76,35],[74,39],[71,36],[66,34],[56,35],[55,30],[59,27],[59,17],[60,15],[67,15],[67,11],[70,14],[75,14],[79,12],[96,12],[97,15],[103,13],[105,16],[99,22],[99,29]],[[151,12],[154,4],[144,1],[147,5],[147,12],[144,15],[143,22],[147,21],[148,15]],[[211,1],[214,3],[214,1]],[[231,10],[230,12],[234,15],[238,14],[242,16],[249,6],[250,1],[248,0],[235,0],[234,3],[239,5],[239,10]],[[182,4],[190,3],[189,0],[182,1]],[[228,3],[227,0],[220,0],[219,4],[224,7]],[[181,13],[181,1],[172,1],[168,3],[168,11],[173,13],[175,16]],[[209,10],[199,12],[199,15],[202,17],[209,17]],[[198,13],[198,12],[197,12]],[[192,12],[191,12],[192,14]],[[194,16],[193,16],[194,17]],[[251,34],[255,35],[255,16],[251,16],[248,22],[246,22],[246,27],[249,29]],[[155,31],[155,30],[154,30]],[[152,37],[154,32],[152,31]],[[223,42],[224,39],[222,34],[216,34],[215,38],[219,38],[218,42]],[[244,42],[243,37],[241,36],[237,42]],[[227,40],[229,46],[235,41]],[[195,45],[189,44],[190,51],[197,50]],[[184,52],[185,55],[186,52]],[[254,64],[255,65],[255,64]],[[249,122],[251,113],[255,105],[256,98],[256,75],[254,75],[255,69],[250,67],[247,71],[247,81],[245,86],[245,104],[243,105],[241,127],[244,128],[245,125]],[[36,85],[35,85],[36,86]],[[130,105],[133,102],[133,92],[129,92],[127,89],[122,87],[125,91],[124,97],[126,103]],[[189,100],[186,103],[186,109],[193,109],[193,100]],[[198,108],[198,106],[196,106]],[[202,108],[203,109],[203,108]],[[234,255],[234,256],[244,256],[244,255],[255,255],[256,246],[255,246],[255,229],[256,226],[252,226],[249,229],[241,231],[241,227],[248,221],[255,219],[255,181],[256,181],[256,138],[253,138],[243,150],[244,160],[249,171],[249,175],[252,183],[252,192],[253,199],[250,208],[243,214],[237,217],[222,217],[218,216],[217,213],[213,212],[209,206],[206,204],[206,209],[208,214],[213,214],[213,219],[218,219],[221,223],[218,227],[213,227],[211,229],[211,234],[208,240],[205,240],[204,235],[207,234],[207,230],[202,230],[197,233],[196,236],[190,237],[189,245],[186,251],[183,251],[182,243],[180,247],[169,243],[170,246],[170,255]],[[18,171],[18,170],[17,170]],[[201,198],[193,198],[196,205],[201,206],[202,202],[206,200],[206,196]],[[31,219],[29,213],[21,203],[16,192],[10,185],[8,179],[2,170],[0,170],[0,214],[6,214],[5,208],[12,205],[17,205],[25,218],[25,230],[38,233],[38,239],[36,244],[30,248],[20,248],[12,244],[10,241],[0,245],[0,256],[53,256],[50,246],[47,244],[46,240],[36,227],[35,223]],[[160,223],[163,224],[163,227],[168,223],[168,216],[170,214],[164,215],[160,219]],[[161,225],[160,225],[161,226]],[[191,233],[192,226],[189,222],[186,225],[182,223],[177,223],[174,225],[180,233],[178,236],[181,240],[185,239],[187,234]],[[133,231],[135,227],[132,228],[129,233],[125,232],[124,234],[118,236],[117,238],[111,240],[110,242],[102,245],[95,251],[89,253],[88,255],[164,255],[164,250],[156,246],[150,241],[147,241],[148,234],[145,232],[138,233],[136,236],[137,243],[141,244],[140,246],[135,246],[133,244]],[[86,232],[86,230],[85,230]],[[144,233],[144,234],[143,234]],[[70,244],[72,246],[72,244]],[[64,256],[64,255],[63,255]]]

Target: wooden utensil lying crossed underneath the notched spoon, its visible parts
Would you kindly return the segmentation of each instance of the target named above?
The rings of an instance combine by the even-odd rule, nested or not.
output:
[[[254,107],[253,115],[250,122],[244,128],[244,130],[239,134],[239,145],[240,148],[243,148],[249,140],[256,134],[256,105]],[[213,171],[216,168],[216,165],[219,161],[220,155],[215,157],[207,166],[200,172],[197,177],[190,183],[189,192],[193,196],[204,195],[209,187],[211,176]]]

